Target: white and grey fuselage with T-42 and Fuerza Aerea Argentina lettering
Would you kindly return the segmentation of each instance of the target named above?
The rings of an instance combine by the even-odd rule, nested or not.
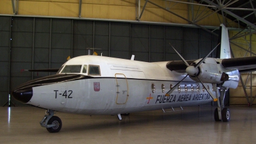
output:
[[[40,108],[84,115],[116,115],[212,101],[202,84],[189,77],[166,96],[186,76],[169,70],[166,63],[79,56],[67,61],[56,75],[22,84],[13,90],[13,97]],[[207,83],[207,88],[212,91],[212,84]]]

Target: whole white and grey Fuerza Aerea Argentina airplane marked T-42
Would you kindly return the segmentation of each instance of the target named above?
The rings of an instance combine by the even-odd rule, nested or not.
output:
[[[218,101],[214,119],[228,122],[225,91],[237,87],[239,72],[255,70],[256,57],[230,58],[228,30],[222,25],[221,31],[221,59],[207,58],[210,53],[199,60],[186,61],[179,55],[182,61],[155,63],[135,61],[134,56],[131,60],[78,56],[57,74],[21,84],[12,95],[24,104],[47,109],[40,124],[49,132],[59,132],[62,126],[54,111],[117,115],[122,120],[121,114],[174,111],[212,100]]]

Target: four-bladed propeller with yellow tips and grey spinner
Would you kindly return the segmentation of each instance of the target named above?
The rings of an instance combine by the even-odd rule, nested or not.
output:
[[[169,43],[170,44],[170,43]],[[170,44],[171,45],[171,44]],[[218,44],[220,45],[220,43]],[[218,47],[218,45],[216,47]],[[172,46],[172,45],[171,45]],[[198,75],[198,67],[201,65],[201,63],[203,63],[205,61],[206,58],[208,58],[208,56],[216,49],[216,47],[214,47],[214,49],[212,49],[211,52],[209,52],[209,54],[207,54],[207,56],[205,56],[204,58],[202,58],[202,60],[200,60],[198,63],[196,63],[196,65],[189,65],[188,62],[179,54],[179,52],[176,51],[176,49],[172,46],[172,48],[174,49],[175,52],[177,52],[177,54],[179,54],[180,58],[182,59],[182,61],[187,65],[187,68],[186,68],[186,72],[187,72],[187,75],[181,80],[179,81],[179,83],[175,84],[175,86],[173,86],[173,88],[171,90],[169,90],[165,95],[166,96],[169,96],[170,93],[173,92],[173,90],[175,90],[175,88],[177,88],[177,86],[179,86],[179,84],[184,80],[186,79],[186,77],[188,76],[193,76],[193,77],[196,77],[200,83],[202,83],[202,81],[197,77]],[[204,86],[205,90],[209,93],[209,95],[211,95],[212,99],[215,101],[217,101],[217,97],[207,88],[206,84],[202,83],[202,85]]]

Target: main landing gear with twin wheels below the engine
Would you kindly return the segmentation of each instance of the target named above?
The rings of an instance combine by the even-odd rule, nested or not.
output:
[[[220,86],[220,99],[218,98],[218,92],[217,90],[216,95],[217,95],[217,103],[218,103],[218,108],[215,109],[214,111],[214,120],[216,122],[220,122],[221,120],[223,122],[229,122],[230,120],[230,111],[228,108],[224,108],[224,99],[225,99],[225,93],[228,90],[226,87],[224,86]]]

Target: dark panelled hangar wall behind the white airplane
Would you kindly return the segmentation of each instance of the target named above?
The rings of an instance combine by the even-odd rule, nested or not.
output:
[[[172,44],[193,60],[205,56],[218,40],[199,28],[15,16],[0,16],[0,38],[0,106],[15,86],[48,75],[22,69],[59,68],[68,56],[88,54],[86,48],[99,48],[98,54],[115,58],[130,59],[134,54],[139,61],[179,60]]]

